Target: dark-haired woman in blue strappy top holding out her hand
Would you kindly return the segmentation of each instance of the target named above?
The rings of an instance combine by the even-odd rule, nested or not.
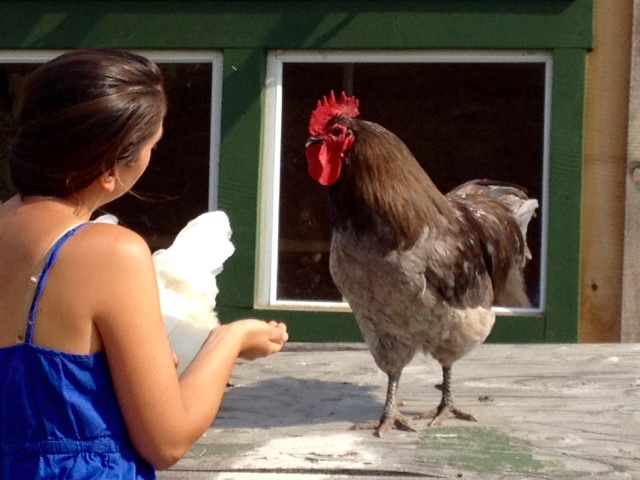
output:
[[[219,326],[178,378],[147,244],[88,223],[162,136],[160,70],[76,50],[23,93],[0,205],[0,477],[155,478],[211,425],[235,361],[280,351],[286,327]]]

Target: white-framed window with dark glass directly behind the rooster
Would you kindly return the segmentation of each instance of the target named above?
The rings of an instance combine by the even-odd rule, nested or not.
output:
[[[526,283],[545,305],[551,55],[544,52],[277,52],[269,55],[257,307],[346,310],[329,273],[323,187],[304,154],[309,114],[334,90],[398,135],[446,192],[473,178],[524,186],[540,202]],[[502,314],[523,309],[496,307]]]

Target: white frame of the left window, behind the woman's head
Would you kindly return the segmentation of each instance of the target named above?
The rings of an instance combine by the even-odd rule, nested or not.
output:
[[[44,63],[67,50],[0,50],[0,63]],[[219,51],[130,50],[158,63],[211,63],[208,208],[218,208],[223,55]]]

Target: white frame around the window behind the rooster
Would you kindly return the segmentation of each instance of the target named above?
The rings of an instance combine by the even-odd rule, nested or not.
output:
[[[544,124],[540,245],[540,298],[533,308],[493,307],[500,315],[541,315],[546,305],[549,205],[549,144],[553,56],[546,51],[273,51],[267,56],[263,158],[259,192],[259,223],[254,307],[274,310],[350,311],[346,302],[279,300],[277,298],[280,162],[282,140],[283,66],[285,63],[544,63]]]

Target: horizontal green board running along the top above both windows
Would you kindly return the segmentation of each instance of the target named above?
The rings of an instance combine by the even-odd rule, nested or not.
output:
[[[589,48],[592,0],[0,2],[0,48]]]

